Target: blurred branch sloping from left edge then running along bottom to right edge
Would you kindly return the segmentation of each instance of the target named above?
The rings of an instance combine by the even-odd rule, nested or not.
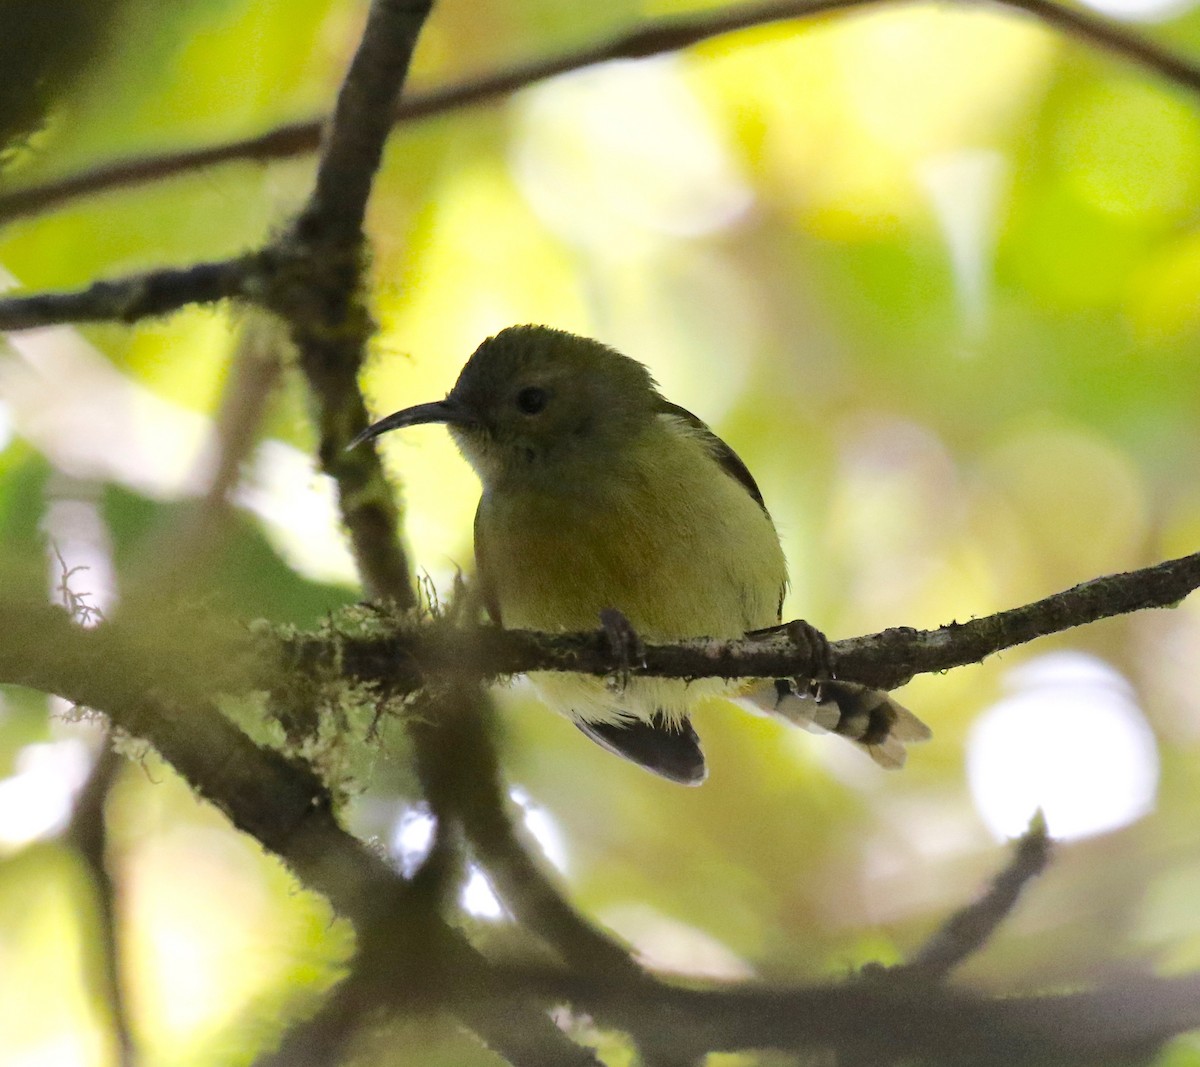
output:
[[[370,961],[361,981],[374,1002],[391,1009],[450,1007],[516,1063],[556,1062],[547,1042],[562,1035],[556,1038],[529,1006],[559,1000],[605,1025],[660,1032],[672,1039],[677,1059],[709,1050],[833,1047],[874,1055],[874,1062],[920,1055],[958,1065],[1103,1063],[1200,1026],[1195,977],[994,1001],[922,981],[928,976],[919,967],[907,981],[884,975],[815,989],[631,982],[595,966],[588,952],[569,972],[497,971],[444,924],[434,898],[401,882],[337,826],[324,786],[307,767],[254,745],[206,701],[198,687],[212,683],[212,672],[198,672],[186,653],[170,651],[174,645],[164,648],[167,639],[154,621],[144,630],[128,623],[84,630],[48,605],[0,603],[0,679],[96,707],[151,742],[197,792],[355,921]],[[443,738],[446,750],[460,738],[456,731]],[[1024,859],[1016,865],[1022,879],[1033,865]],[[989,922],[1004,913],[1014,869],[997,882],[1007,888],[979,906]],[[953,952],[935,954],[953,964],[961,946],[976,941],[977,934],[956,939]],[[563,1041],[558,1062],[588,1062],[577,1049],[568,1055]]]

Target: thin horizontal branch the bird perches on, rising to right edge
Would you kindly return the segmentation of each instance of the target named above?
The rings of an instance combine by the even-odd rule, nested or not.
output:
[[[1116,615],[1170,607],[1200,588],[1200,552],[1141,570],[1082,582],[1022,607],[935,630],[898,627],[833,641],[830,665],[838,678],[881,689],[914,675],[979,663],[1006,648]],[[409,693],[430,677],[472,673],[496,678],[527,671],[610,675],[622,670],[600,631],[539,634],[532,630],[402,629],[389,636],[338,634],[300,636],[287,642],[288,661],[301,670],[337,664],[347,676]],[[648,645],[638,673],[664,678],[811,677],[820,664],[780,627],[760,637],[698,639]]]

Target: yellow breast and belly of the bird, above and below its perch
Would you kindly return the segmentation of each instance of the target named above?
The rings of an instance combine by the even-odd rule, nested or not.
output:
[[[668,444],[595,478],[485,494],[476,537],[505,627],[590,630],[614,607],[644,640],[672,641],[737,637],[778,621],[787,573],[769,517],[698,442]],[[634,679],[614,689],[580,675],[530,677],[548,703],[592,721],[655,711],[678,719],[734,688],[721,679]]]

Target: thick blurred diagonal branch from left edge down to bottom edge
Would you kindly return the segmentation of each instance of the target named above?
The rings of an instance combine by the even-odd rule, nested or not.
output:
[[[510,1062],[588,1065],[523,993],[514,997],[496,984],[488,961],[438,917],[419,887],[342,829],[329,791],[306,765],[254,744],[208,700],[185,635],[174,637],[156,622],[137,631],[112,623],[85,630],[60,609],[0,601],[0,683],[95,708],[150,742],[197,795],[360,933],[382,931],[394,1008],[436,1009],[449,1003],[450,990],[470,991],[451,1011]],[[211,681],[211,672],[202,673]]]

